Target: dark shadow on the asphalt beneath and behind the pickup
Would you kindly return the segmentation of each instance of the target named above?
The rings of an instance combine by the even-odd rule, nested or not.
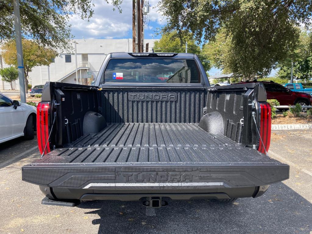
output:
[[[169,201],[147,216],[141,202],[95,201],[80,208],[98,209],[92,221],[98,233],[310,233],[312,204],[283,183],[265,196],[223,203],[208,200]]]

